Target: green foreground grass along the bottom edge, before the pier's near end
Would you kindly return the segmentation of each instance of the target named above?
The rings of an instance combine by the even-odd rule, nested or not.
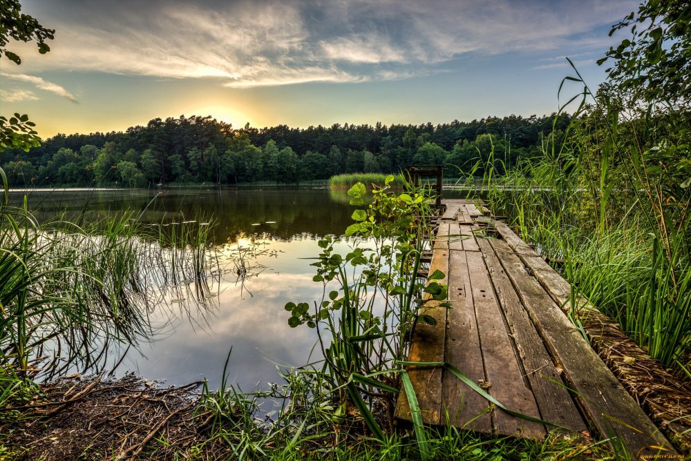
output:
[[[229,366],[227,360],[224,375]],[[209,435],[187,454],[195,453],[200,459],[425,459],[410,431],[385,426],[383,438],[372,440],[364,431],[363,415],[352,404],[341,406],[334,399],[329,379],[321,369],[305,366],[281,373],[281,384],[273,384],[268,391],[245,393],[227,381],[216,390],[205,385],[196,421],[198,430]],[[267,399],[277,402],[278,409],[264,417],[261,405]],[[453,424],[422,426],[421,431],[426,458],[431,460],[580,459],[585,451],[603,459],[607,455],[600,448],[602,442],[584,445],[558,433],[536,441],[482,435]]]

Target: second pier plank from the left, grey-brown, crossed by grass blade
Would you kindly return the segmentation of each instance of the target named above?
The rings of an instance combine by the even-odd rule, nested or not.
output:
[[[451,251],[449,255],[448,299],[452,308],[446,313],[446,362],[475,382],[486,380],[468,264],[463,251]],[[486,399],[448,371],[444,371],[442,385],[444,407],[451,424],[475,431],[492,431]]]

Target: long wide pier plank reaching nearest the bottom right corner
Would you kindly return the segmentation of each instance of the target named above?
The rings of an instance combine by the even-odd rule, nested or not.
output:
[[[499,225],[498,229],[504,235],[505,229]],[[511,237],[518,243],[515,238]],[[513,246],[511,242],[509,245]],[[520,243],[516,247],[524,251]],[[569,386],[578,393],[578,401],[589,420],[601,435],[616,436],[636,457],[658,453],[658,449],[651,447],[666,447],[670,451],[665,453],[674,453],[670,442],[623,389],[538,280],[525,271],[522,257],[509,254],[504,268],[551,355],[562,365]]]

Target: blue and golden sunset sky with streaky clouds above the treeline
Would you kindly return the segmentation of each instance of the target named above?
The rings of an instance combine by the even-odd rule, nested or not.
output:
[[[23,0],[56,30],[12,42],[0,113],[41,137],[212,117],[242,128],[549,115],[595,89],[638,0]]]

